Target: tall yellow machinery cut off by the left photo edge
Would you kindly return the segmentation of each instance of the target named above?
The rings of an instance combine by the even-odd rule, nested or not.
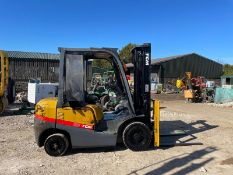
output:
[[[0,113],[2,113],[5,107],[8,104],[8,100],[6,98],[7,95],[7,87],[8,87],[8,67],[9,60],[8,55],[4,51],[0,51],[0,59],[1,59],[1,71],[0,71]]]

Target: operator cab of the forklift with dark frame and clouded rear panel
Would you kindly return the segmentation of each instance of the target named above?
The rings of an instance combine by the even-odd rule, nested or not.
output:
[[[126,92],[127,81],[122,82],[126,78],[121,64],[112,54],[95,50],[65,51],[64,65],[63,106],[75,109],[95,105],[102,111],[99,113],[102,116],[97,118],[104,120],[129,113],[128,100],[132,97]]]

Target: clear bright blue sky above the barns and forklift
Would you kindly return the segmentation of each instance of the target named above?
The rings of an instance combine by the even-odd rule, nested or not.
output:
[[[198,53],[233,64],[233,0],[0,0],[0,49],[152,44],[152,58]]]

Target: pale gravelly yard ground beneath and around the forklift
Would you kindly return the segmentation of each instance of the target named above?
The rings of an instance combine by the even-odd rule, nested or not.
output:
[[[185,130],[172,141],[203,145],[144,152],[116,148],[75,149],[50,157],[34,141],[33,116],[0,117],[0,174],[232,174],[233,108],[185,103],[180,95],[161,100],[161,130]]]

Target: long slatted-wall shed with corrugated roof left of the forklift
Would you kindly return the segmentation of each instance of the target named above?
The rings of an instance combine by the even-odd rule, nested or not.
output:
[[[6,52],[9,57],[9,77],[16,82],[16,91],[25,90],[30,79],[58,82],[59,54]]]

